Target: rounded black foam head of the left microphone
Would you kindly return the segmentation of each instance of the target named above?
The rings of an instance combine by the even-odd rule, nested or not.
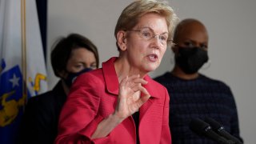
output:
[[[193,118],[190,121],[190,130],[198,135],[206,135],[208,130],[211,130],[211,127],[208,123],[203,122],[199,118]]]

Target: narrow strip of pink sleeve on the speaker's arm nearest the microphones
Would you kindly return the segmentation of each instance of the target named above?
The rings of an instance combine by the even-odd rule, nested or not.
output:
[[[163,118],[162,118],[162,134],[160,143],[170,143],[170,126],[169,126],[169,110],[170,110],[170,97],[166,88],[164,88],[164,110],[163,110]]]

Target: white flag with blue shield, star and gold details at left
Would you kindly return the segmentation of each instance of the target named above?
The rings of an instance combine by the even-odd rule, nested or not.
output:
[[[28,98],[47,90],[34,0],[0,0],[0,143],[15,143]]]

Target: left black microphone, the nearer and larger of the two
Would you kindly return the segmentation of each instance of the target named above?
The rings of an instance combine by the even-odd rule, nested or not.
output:
[[[194,131],[194,133],[200,136],[205,136],[206,138],[210,138],[215,142],[218,142],[219,144],[234,144],[234,142],[228,141],[226,140],[226,138],[223,138],[218,134],[216,134],[208,123],[203,122],[199,118],[194,118],[191,120],[190,130]]]

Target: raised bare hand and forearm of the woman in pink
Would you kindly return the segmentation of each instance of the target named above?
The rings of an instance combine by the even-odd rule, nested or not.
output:
[[[91,138],[106,137],[120,122],[138,111],[150,98],[150,94],[142,86],[146,85],[146,83],[144,79],[139,78],[139,75],[123,78],[119,84],[118,104],[114,113],[98,124]],[[142,97],[141,94],[143,95]]]

